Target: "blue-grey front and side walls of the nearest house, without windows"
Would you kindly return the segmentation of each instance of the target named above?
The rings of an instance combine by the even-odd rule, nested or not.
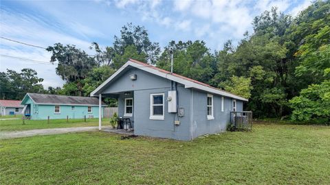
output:
[[[131,80],[130,75],[137,79]],[[177,90],[178,108],[184,108],[184,116],[168,112],[168,91]],[[164,93],[164,120],[150,119],[150,95]],[[207,120],[208,93],[185,88],[183,84],[171,83],[169,79],[136,68],[129,68],[118,75],[102,90],[102,95],[118,98],[118,116],[124,116],[124,99],[133,97],[134,134],[177,140],[192,140],[203,134],[223,132],[229,123],[232,99],[224,97],[224,112],[221,112],[221,97],[214,95],[214,120]],[[243,103],[236,100],[236,110],[243,110]],[[125,116],[126,117],[126,116]],[[180,121],[175,125],[174,121]]]

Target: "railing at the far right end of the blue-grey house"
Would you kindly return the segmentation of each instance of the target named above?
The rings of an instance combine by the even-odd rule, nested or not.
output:
[[[252,112],[251,111],[230,112],[230,130],[232,131],[252,130]]]

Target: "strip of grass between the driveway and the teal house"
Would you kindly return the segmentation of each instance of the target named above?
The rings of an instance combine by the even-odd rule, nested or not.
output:
[[[102,125],[110,125],[109,119],[102,119]],[[53,119],[50,123],[47,120],[0,120],[0,132],[1,131],[19,131],[19,130],[32,130],[43,128],[58,128],[58,127],[87,127],[98,126],[98,119],[69,119],[67,123],[66,119]]]

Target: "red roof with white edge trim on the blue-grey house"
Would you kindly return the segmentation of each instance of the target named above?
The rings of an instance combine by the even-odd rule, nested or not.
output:
[[[184,77],[182,75],[178,75],[175,73],[170,73],[169,71],[166,71],[164,69],[159,69],[155,66],[146,64],[144,62],[140,62],[137,60],[133,60],[133,59],[129,59],[129,61],[127,61],[120,69],[118,69],[118,71],[116,71],[113,75],[111,75],[111,77],[109,77],[105,82],[103,82],[100,86],[98,86],[98,88],[96,88],[96,90],[94,90],[91,93],[91,97],[94,97],[95,95],[98,95],[100,93],[102,93],[102,90],[104,88],[104,86],[107,86],[107,84],[109,84],[109,82],[111,82],[113,79],[115,79],[115,77],[117,75],[119,75],[122,71],[124,71],[124,69],[126,69],[127,66],[133,66],[136,67],[138,69],[141,69],[143,71],[147,71],[148,73],[153,73],[154,75],[158,75],[160,77],[164,77],[166,79],[170,79],[174,82],[178,82],[180,84],[184,84],[185,88],[196,88],[198,90],[203,90],[206,91],[208,93],[213,93],[215,95],[221,95],[221,96],[225,96],[225,97],[232,97],[234,99],[239,99],[242,101],[248,101],[248,99],[245,99],[243,97],[239,97],[237,95],[234,95],[232,93],[228,93],[224,90],[220,90],[218,88],[214,88],[208,84],[205,84],[203,82],[199,82],[195,79],[190,79],[188,77]]]

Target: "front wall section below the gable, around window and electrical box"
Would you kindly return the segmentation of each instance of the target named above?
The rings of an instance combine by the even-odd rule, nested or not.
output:
[[[134,92],[135,103],[135,128],[134,133],[143,136],[154,136],[160,138],[174,138],[177,140],[190,140],[190,97],[189,89],[182,86],[177,87],[179,102],[178,105],[184,108],[184,116],[177,117],[177,114],[168,113],[168,96],[170,88],[158,88],[150,90],[136,90]],[[164,93],[164,120],[151,120],[150,116],[150,95],[153,93]],[[180,125],[174,125],[179,120]]]

